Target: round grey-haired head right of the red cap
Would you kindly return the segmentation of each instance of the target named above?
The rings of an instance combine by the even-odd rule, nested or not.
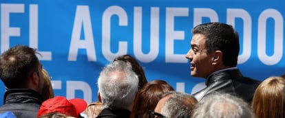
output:
[[[101,71],[98,89],[103,108],[127,109],[138,91],[138,76],[129,62],[114,61]]]

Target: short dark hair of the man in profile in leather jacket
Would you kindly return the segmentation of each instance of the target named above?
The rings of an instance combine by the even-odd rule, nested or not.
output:
[[[236,67],[240,51],[239,36],[231,25],[225,23],[204,23],[192,29],[193,34],[203,34],[207,37],[207,51],[220,50],[226,67]]]

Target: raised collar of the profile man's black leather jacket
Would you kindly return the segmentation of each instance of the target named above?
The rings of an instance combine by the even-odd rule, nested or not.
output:
[[[213,82],[218,82],[220,80],[229,80],[229,79],[235,79],[242,77],[242,73],[239,69],[236,67],[223,69],[220,71],[215,71],[214,73],[211,73],[209,77],[206,80],[206,86],[209,86],[209,84]]]

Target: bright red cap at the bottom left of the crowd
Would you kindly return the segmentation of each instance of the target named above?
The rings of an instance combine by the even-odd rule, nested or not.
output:
[[[46,115],[47,113],[63,113],[71,117],[78,117],[87,107],[87,103],[84,99],[70,99],[67,100],[63,96],[56,96],[47,99],[41,104],[37,117]]]

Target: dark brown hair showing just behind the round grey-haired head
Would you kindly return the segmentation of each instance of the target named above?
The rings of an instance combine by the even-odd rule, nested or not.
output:
[[[126,54],[123,56],[118,56],[114,59],[114,61],[116,60],[122,60],[124,62],[131,63],[132,70],[136,73],[136,75],[138,75],[138,90],[140,90],[142,86],[147,84],[147,78],[145,78],[145,71],[142,69],[136,58]]]

